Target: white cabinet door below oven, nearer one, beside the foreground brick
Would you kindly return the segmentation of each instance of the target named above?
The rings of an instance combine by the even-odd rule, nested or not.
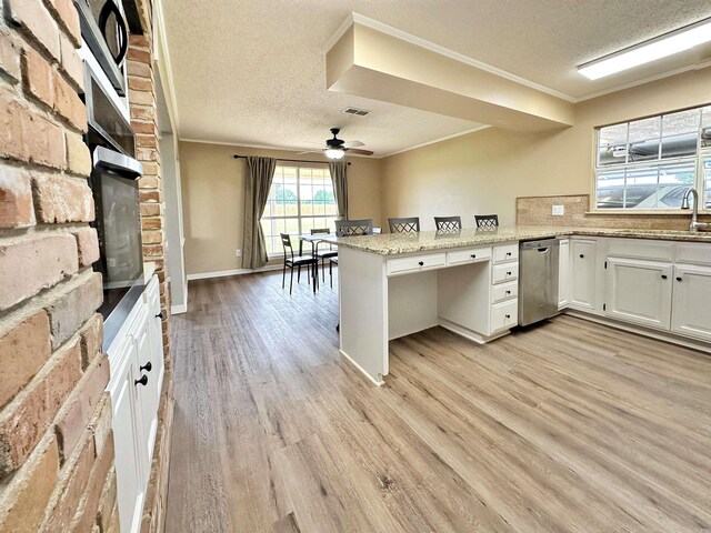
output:
[[[136,350],[132,341],[133,339],[128,339],[124,350],[131,352]],[[122,532],[138,531],[143,506],[144,484],[138,459],[140,451],[138,450],[136,385],[133,384],[134,359],[134,353],[121,358],[126,364],[119,370],[121,378],[116,389],[111,391],[117,501]]]

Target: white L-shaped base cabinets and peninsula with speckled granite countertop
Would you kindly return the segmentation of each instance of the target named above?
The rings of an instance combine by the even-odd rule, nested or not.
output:
[[[518,325],[519,242],[558,238],[560,310],[711,351],[711,233],[515,227],[336,238],[340,353],[375,384],[388,343],[435,325],[474,342]]]

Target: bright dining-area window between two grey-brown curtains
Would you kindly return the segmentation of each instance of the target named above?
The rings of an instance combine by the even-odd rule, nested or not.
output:
[[[334,231],[338,207],[328,168],[277,165],[261,218],[267,253],[282,252],[279,233],[298,235],[312,228]],[[297,247],[297,241],[292,241]]]

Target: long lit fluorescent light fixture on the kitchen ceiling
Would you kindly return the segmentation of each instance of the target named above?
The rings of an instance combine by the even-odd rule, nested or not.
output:
[[[711,41],[711,19],[704,19],[634,47],[578,67],[585,78],[597,80],[623,70],[665,58]]]

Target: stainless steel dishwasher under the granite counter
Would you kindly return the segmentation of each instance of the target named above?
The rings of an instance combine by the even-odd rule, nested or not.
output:
[[[519,254],[519,325],[558,314],[558,239],[524,241]]]

